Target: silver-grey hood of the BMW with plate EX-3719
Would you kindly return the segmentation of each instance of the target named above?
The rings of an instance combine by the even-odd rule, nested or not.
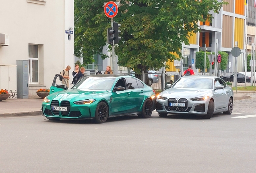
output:
[[[194,98],[194,97],[202,97],[211,93],[212,89],[178,89],[178,88],[170,88],[160,93],[160,95],[164,97],[186,97],[186,98]]]

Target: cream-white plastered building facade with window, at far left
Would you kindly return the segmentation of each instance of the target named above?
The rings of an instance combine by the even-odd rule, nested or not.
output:
[[[72,81],[74,0],[1,0],[0,16],[0,33],[9,41],[0,45],[0,89],[17,92],[17,60],[28,60],[29,97],[49,89],[67,65]]]

